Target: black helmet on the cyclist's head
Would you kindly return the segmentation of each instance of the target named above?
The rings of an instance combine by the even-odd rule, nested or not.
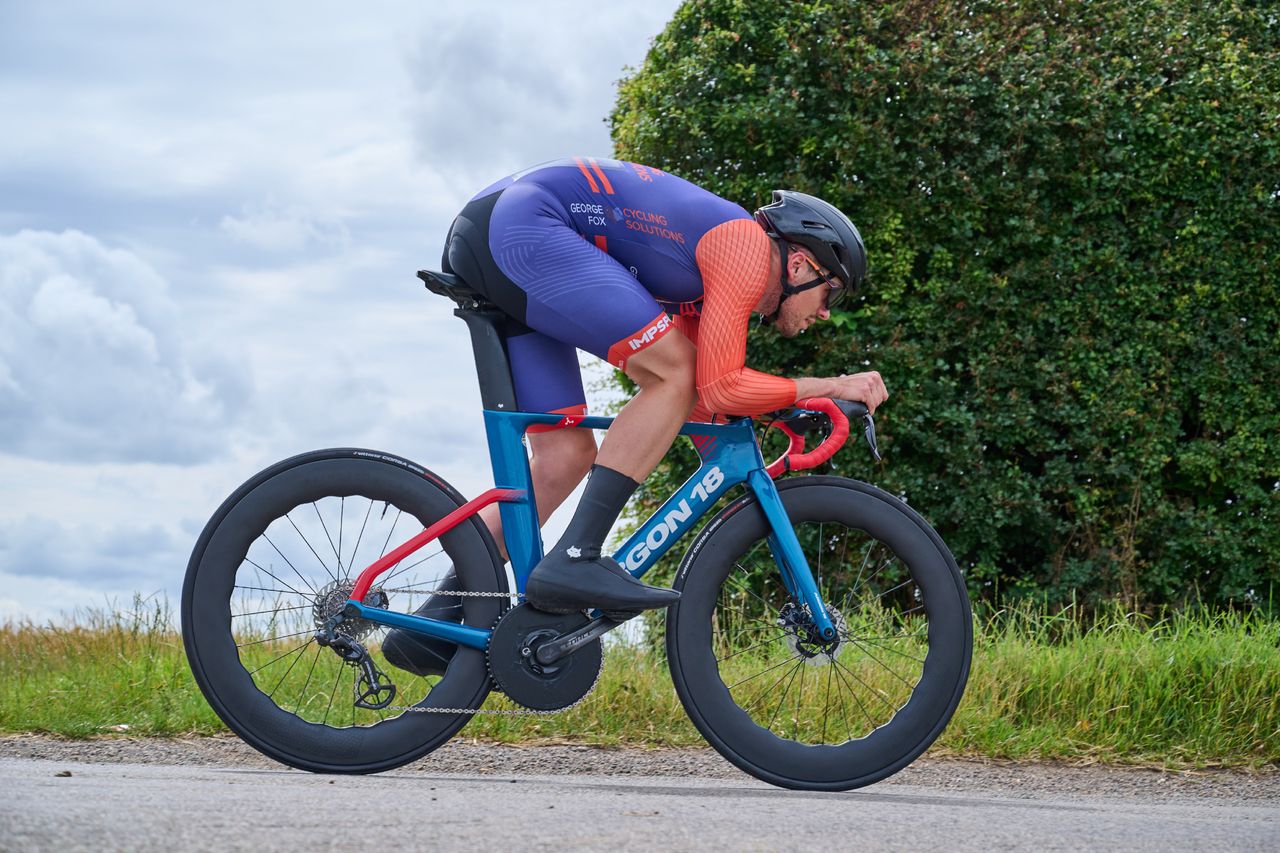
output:
[[[773,204],[755,211],[755,222],[771,237],[804,246],[850,291],[867,275],[867,250],[849,216],[822,199],[774,190]],[[786,254],[783,254],[786,265]]]

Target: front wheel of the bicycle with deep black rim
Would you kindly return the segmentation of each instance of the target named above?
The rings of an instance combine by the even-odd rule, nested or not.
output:
[[[778,493],[838,644],[804,633],[748,494],[681,562],[667,617],[672,680],[707,742],[753,776],[808,790],[869,785],[923,753],[960,703],[973,653],[964,581],[924,519],[872,485],[801,476]]]

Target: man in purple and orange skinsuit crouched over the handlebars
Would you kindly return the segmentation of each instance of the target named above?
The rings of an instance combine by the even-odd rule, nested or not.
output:
[[[753,216],[653,167],[568,158],[476,195],[453,222],[442,263],[509,316],[522,411],[564,415],[562,425],[586,414],[576,350],[639,387],[599,450],[590,430],[529,430],[541,521],[589,474],[568,528],[526,584],[527,602],[544,611],[626,616],[678,598],[635,579],[600,547],[686,420],[759,415],[805,397],[858,400],[874,411],[888,397],[876,371],[791,379],[745,366],[753,313],[794,337],[861,283],[861,236],[814,196],[777,190]],[[498,507],[481,515],[503,548]],[[453,584],[449,575],[439,589]],[[457,619],[458,611],[436,594],[417,612]],[[383,642],[388,661],[422,672],[442,671],[449,651],[404,631]]]

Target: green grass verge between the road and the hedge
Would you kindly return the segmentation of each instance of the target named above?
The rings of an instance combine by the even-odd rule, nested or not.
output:
[[[932,754],[1188,767],[1280,766],[1280,620],[1019,608],[975,622],[964,701]],[[503,707],[492,698],[492,707]],[[127,726],[122,729],[122,726]],[[0,731],[214,734],[163,605],[0,628]],[[538,717],[477,716],[497,742],[703,743],[658,653],[614,646],[594,693]]]

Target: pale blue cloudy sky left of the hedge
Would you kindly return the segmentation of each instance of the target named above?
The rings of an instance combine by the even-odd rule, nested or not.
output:
[[[177,607],[223,498],[302,451],[489,488],[413,273],[494,179],[611,154],[677,5],[0,3],[0,621]]]

